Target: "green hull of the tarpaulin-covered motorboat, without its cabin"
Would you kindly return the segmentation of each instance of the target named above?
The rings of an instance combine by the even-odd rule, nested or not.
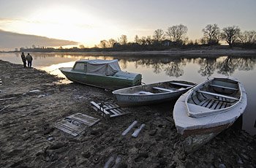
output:
[[[61,68],[60,71],[75,83],[81,83],[84,85],[91,85],[98,88],[107,88],[110,90],[116,90],[118,88],[127,88],[134,85],[140,85],[141,75],[133,74],[135,77],[116,77],[116,76],[102,76],[94,74],[86,74],[83,72],[72,71],[71,68]],[[128,72],[122,72],[128,73]],[[131,75],[132,73],[129,73]]]

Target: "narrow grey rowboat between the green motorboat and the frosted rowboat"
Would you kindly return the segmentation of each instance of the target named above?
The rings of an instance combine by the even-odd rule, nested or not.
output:
[[[121,107],[156,104],[178,99],[182,93],[194,87],[195,83],[171,80],[162,83],[138,85],[113,91]]]

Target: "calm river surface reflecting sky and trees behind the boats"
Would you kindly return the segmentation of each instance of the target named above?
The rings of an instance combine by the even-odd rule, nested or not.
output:
[[[138,72],[143,83],[166,80],[187,80],[201,83],[207,77],[231,76],[244,84],[247,107],[243,115],[243,128],[256,134],[256,56],[91,56],[88,53],[32,53],[32,66],[53,75],[64,77],[59,67],[72,66],[79,59],[118,59],[121,69]],[[0,53],[0,59],[22,64],[20,53]],[[1,72],[0,72],[1,74]]]

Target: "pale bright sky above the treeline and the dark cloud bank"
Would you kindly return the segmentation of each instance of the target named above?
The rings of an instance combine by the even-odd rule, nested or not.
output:
[[[207,24],[256,30],[255,0],[0,0],[0,29],[80,42],[86,47],[102,39],[129,41],[154,30],[187,26],[189,39],[203,37]],[[3,39],[0,39],[3,40]],[[1,46],[0,46],[1,47]]]

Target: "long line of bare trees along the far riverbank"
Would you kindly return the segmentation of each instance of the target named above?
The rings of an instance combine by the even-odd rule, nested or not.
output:
[[[187,37],[187,26],[183,24],[170,26],[166,31],[161,28],[154,31],[152,36],[138,37],[135,36],[134,42],[128,42],[126,35],[121,35],[117,40],[101,40],[96,47],[109,48],[120,45],[165,45],[165,46],[182,46],[182,45],[220,45],[221,41],[227,42],[230,47],[255,47],[256,31],[241,31],[238,26],[228,26],[219,28],[217,24],[208,24],[202,29],[203,37],[195,39],[193,42]]]

